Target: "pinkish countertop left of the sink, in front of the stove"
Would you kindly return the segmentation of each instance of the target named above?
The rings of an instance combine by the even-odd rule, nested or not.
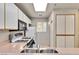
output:
[[[0,42],[0,54],[15,53],[18,54],[23,50],[26,43],[10,43],[8,40]]]

